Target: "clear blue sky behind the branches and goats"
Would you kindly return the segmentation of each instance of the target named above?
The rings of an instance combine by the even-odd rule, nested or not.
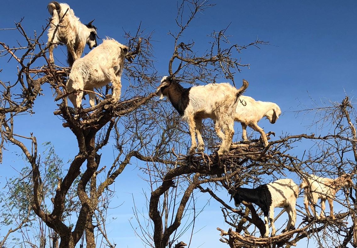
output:
[[[153,42],[156,67],[162,75],[167,74],[173,50],[173,39],[167,33],[169,30],[178,30],[175,25],[176,1],[89,0],[67,3],[83,23],[95,18],[93,24],[97,26],[100,37],[109,36],[125,43],[123,29],[135,32],[140,22],[147,32],[154,30],[153,40],[157,41]],[[231,43],[246,45],[258,37],[274,45],[261,46],[261,50],[251,47],[243,51],[242,63],[250,63],[250,69],[243,68],[240,74],[236,74],[236,82],[245,78],[250,83],[246,95],[280,105],[283,114],[276,124],[271,125],[267,120],[260,122],[266,131],[275,131],[277,134],[315,132],[306,128],[311,122],[309,117],[303,119],[301,115],[296,117],[291,112],[301,109],[299,100],[310,104],[309,95],[317,101],[326,97],[341,102],[346,94],[354,98],[357,81],[357,1],[232,0],[209,3],[216,6],[197,15],[200,18],[191,23],[182,41],[188,43],[193,39],[196,47],[205,46],[208,41],[206,35],[213,30],[225,29],[231,23],[226,32],[232,35],[229,38]],[[48,1],[7,1],[0,8],[0,28],[14,27],[14,21],[25,17],[22,24],[28,34],[32,34],[32,30],[39,33],[49,17],[47,4]],[[17,39],[21,39],[17,31],[0,31],[0,40],[8,45],[13,45]],[[60,51],[59,48],[54,50],[55,56],[60,56]],[[86,47],[85,52],[88,51]],[[16,68],[4,62],[2,59],[0,78],[4,82],[14,82]],[[122,81],[125,84],[125,79]],[[225,79],[217,81],[225,82]],[[77,153],[76,142],[70,130],[62,128],[62,121],[52,114],[56,105],[50,89],[46,88],[44,93],[36,100],[36,114],[31,118],[24,117],[23,125],[18,124],[16,132],[21,135],[34,132],[39,143],[51,141],[57,153],[65,160],[69,159]],[[240,126],[236,125],[238,132],[241,132]],[[239,133],[239,136],[235,136],[238,139]],[[10,166],[17,170],[24,166],[24,162],[14,153],[19,149],[13,146],[8,148],[1,165],[0,187],[4,186],[5,177],[15,174]],[[308,147],[300,147],[297,152],[304,149]],[[107,162],[111,163],[115,155],[109,148],[106,156]],[[101,164],[104,165],[105,161],[101,161]],[[134,162],[115,182],[117,198],[112,206],[123,204],[111,212],[109,217],[117,219],[107,227],[107,231],[110,232],[110,239],[114,239],[119,247],[142,246],[139,238],[134,237],[128,222],[133,216],[131,194],[138,207],[145,209],[140,199],[142,188],[148,192],[148,187],[138,174],[141,172],[136,169]],[[131,188],[126,186],[128,182],[131,182]],[[201,244],[201,247],[227,247],[218,241],[220,236],[216,227],[225,227],[219,205],[212,202],[198,217],[196,225],[197,230],[202,229],[193,237],[191,247]],[[1,234],[5,231],[1,230]],[[315,246],[310,244],[310,247]]]

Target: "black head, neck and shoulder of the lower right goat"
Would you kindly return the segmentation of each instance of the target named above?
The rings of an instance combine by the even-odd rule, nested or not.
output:
[[[269,207],[272,203],[271,193],[266,184],[257,188],[236,188],[236,194],[233,198],[236,206],[242,201],[255,203],[261,208],[265,216],[268,215]]]

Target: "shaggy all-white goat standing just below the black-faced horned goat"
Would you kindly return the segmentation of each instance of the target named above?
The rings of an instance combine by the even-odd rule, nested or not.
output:
[[[74,107],[81,107],[83,90],[93,91],[94,87],[102,87],[109,82],[113,86],[112,98],[114,98],[114,101],[119,100],[121,93],[120,76],[124,66],[124,57],[127,54],[127,46],[107,38],[86,56],[76,60],[66,85],[69,92],[77,90],[75,94],[68,96]],[[90,105],[94,106],[94,93],[89,92],[88,95]]]

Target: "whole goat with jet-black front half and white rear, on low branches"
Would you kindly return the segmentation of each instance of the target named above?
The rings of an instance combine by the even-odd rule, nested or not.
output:
[[[242,201],[255,203],[264,213],[265,235],[269,236],[268,213],[271,223],[271,236],[275,236],[274,226],[274,208],[283,207],[288,213],[289,221],[283,232],[293,228],[296,221],[296,198],[299,193],[299,187],[291,179],[279,179],[269,184],[263,184],[257,188],[235,188],[232,198],[236,206]]]

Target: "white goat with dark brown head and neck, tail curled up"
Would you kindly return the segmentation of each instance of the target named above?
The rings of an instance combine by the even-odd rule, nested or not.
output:
[[[169,98],[172,106],[180,114],[182,120],[188,123],[191,135],[190,154],[196,148],[198,152],[204,150],[201,136],[202,119],[211,118],[216,125],[223,129],[222,145],[218,154],[227,153],[234,134],[233,113],[240,94],[248,87],[243,79],[243,86],[239,89],[229,83],[212,83],[204,86],[183,88],[173,76],[163,77],[157,87],[156,95],[160,99]],[[198,147],[195,132],[197,133]]]

